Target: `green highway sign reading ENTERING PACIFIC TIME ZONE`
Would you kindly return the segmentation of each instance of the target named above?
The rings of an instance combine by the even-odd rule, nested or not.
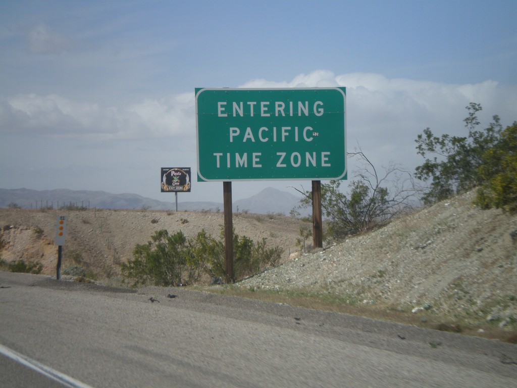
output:
[[[346,179],[344,87],[196,88],[197,180]]]

